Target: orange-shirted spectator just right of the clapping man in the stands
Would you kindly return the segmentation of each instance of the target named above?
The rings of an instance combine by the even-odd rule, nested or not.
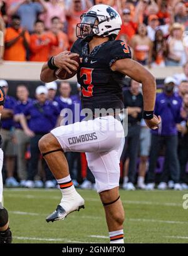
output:
[[[30,61],[47,61],[52,46],[58,46],[57,36],[50,36],[44,31],[44,22],[39,20],[34,24],[35,33],[31,35]]]

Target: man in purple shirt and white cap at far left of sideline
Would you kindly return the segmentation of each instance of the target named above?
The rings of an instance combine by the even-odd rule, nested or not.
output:
[[[14,107],[16,100],[8,96],[8,82],[0,80],[0,86],[3,87],[6,99],[4,102],[4,109],[1,115],[2,130],[1,136],[3,139],[2,149],[5,155],[6,164],[6,186],[18,186],[19,183],[14,178],[14,164],[16,156],[16,148],[14,144]]]

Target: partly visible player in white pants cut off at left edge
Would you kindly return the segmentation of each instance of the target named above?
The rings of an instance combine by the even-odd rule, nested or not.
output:
[[[4,105],[4,91],[0,87],[0,115],[3,110]],[[0,136],[0,243],[11,243],[12,234],[9,228],[9,217],[8,211],[3,207],[3,178],[2,178],[2,168],[3,168],[3,151],[1,149],[1,136]]]

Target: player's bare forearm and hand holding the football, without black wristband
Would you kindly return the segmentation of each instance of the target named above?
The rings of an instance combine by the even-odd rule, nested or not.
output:
[[[72,73],[71,70],[77,70],[78,63],[71,58],[79,56],[77,53],[70,53],[70,51],[62,51],[60,54],[54,57],[54,65],[56,68],[64,68],[68,73]],[[49,83],[55,81],[57,78],[55,76],[55,70],[49,68],[48,63],[44,63],[41,70],[41,81]]]

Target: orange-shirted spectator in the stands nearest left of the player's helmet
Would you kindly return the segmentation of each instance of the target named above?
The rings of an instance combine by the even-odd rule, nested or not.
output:
[[[62,23],[60,18],[53,17],[51,19],[51,29],[48,32],[51,38],[56,40],[56,36],[58,37],[58,46],[52,45],[50,50],[50,56],[58,55],[61,51],[66,51],[69,49],[68,36],[61,31]]]

